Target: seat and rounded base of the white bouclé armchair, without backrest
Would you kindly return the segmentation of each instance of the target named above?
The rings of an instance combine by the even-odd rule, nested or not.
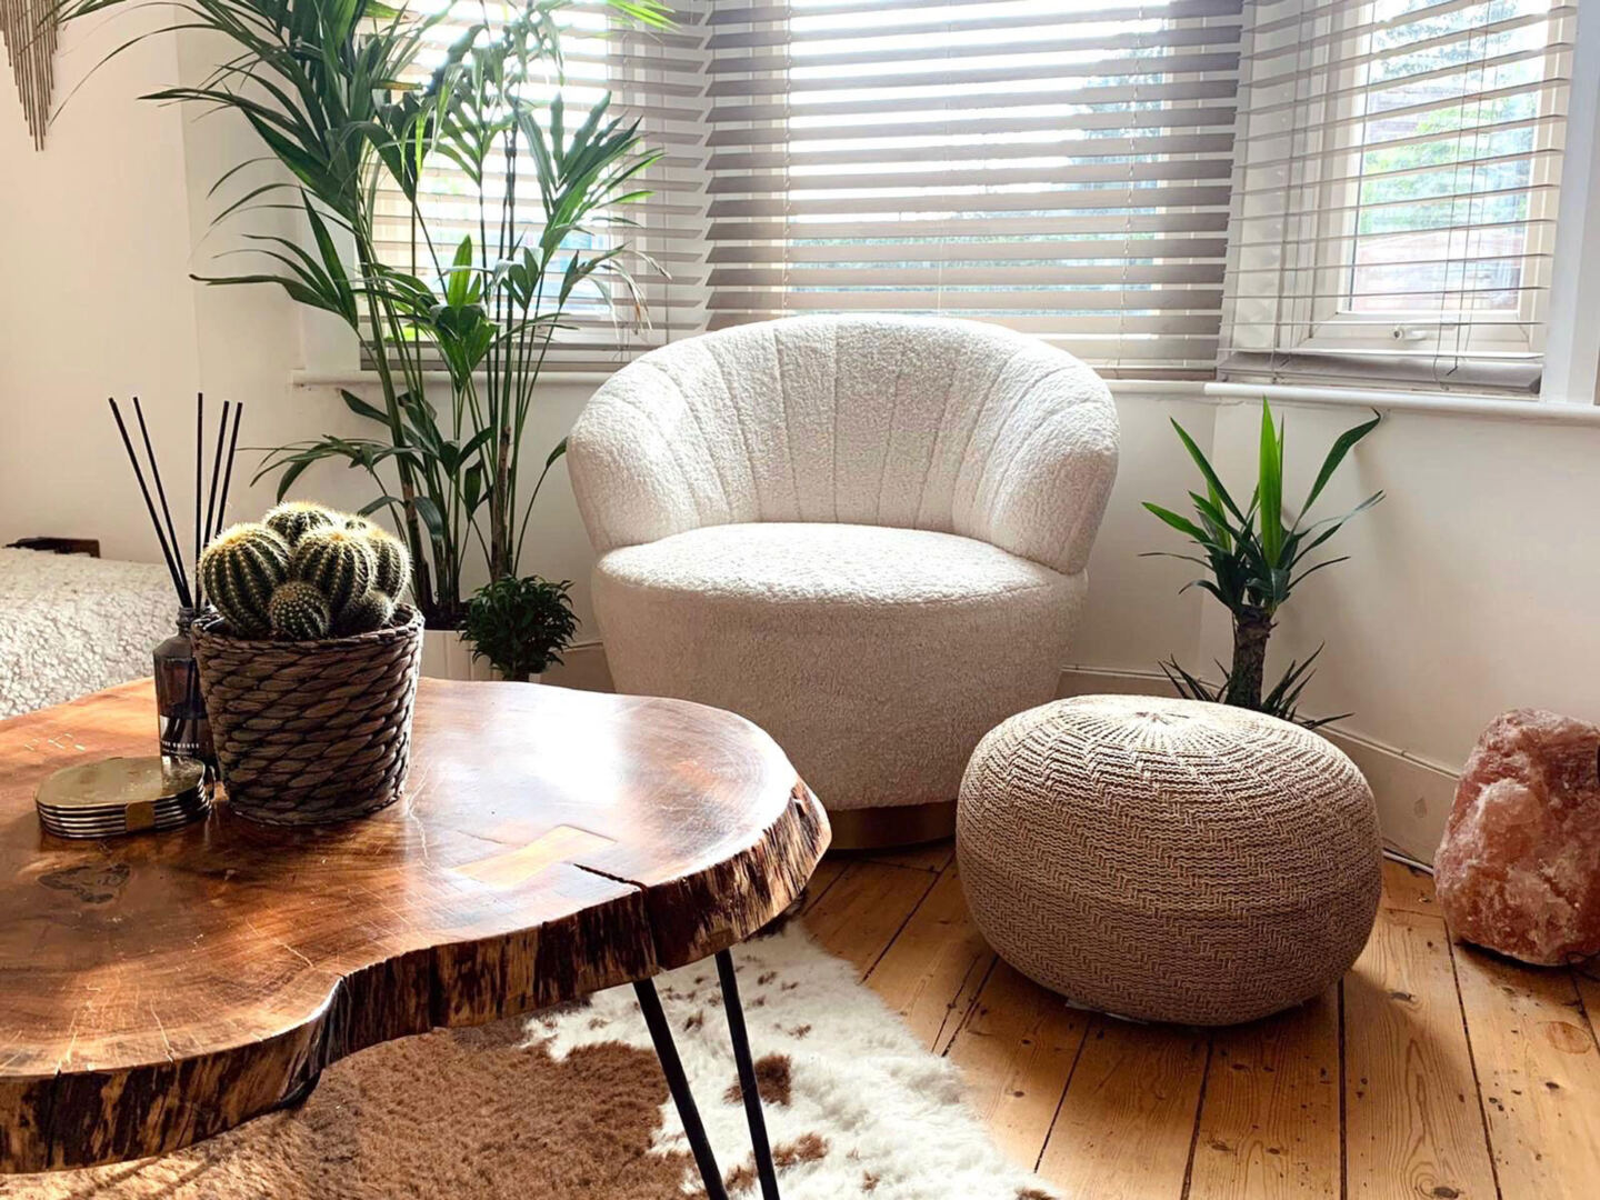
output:
[[[949,800],[978,739],[1054,693],[1085,576],[931,530],[710,525],[594,578],[618,690],[731,709],[830,808]]]

